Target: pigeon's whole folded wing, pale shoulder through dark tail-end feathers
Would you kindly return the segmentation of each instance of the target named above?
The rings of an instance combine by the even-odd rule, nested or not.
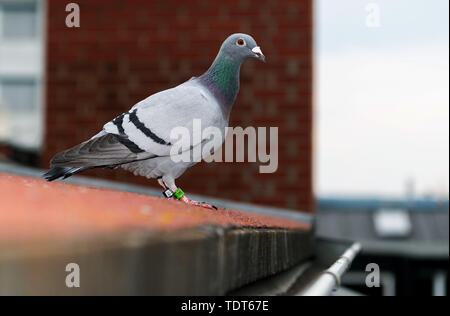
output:
[[[216,126],[222,117],[215,99],[204,88],[192,85],[192,81],[188,83],[139,102],[130,111],[105,124],[103,131],[90,140],[55,155],[51,166],[115,167],[169,156],[174,128],[183,127],[192,137],[195,118],[205,126]],[[195,146],[201,142],[200,138],[191,144]]]

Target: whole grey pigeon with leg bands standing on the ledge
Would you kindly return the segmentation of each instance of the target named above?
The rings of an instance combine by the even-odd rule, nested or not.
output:
[[[242,33],[230,35],[204,74],[149,96],[106,123],[91,139],[56,154],[50,162],[51,169],[43,177],[53,181],[88,169],[120,167],[135,175],[157,179],[168,199],[217,209],[189,199],[176,186],[175,179],[197,162],[173,159],[171,131],[181,126],[192,133],[195,119],[201,120],[202,129],[225,130],[239,91],[240,67],[248,58],[265,62],[253,37]],[[224,140],[222,135],[212,151]],[[191,154],[204,141],[198,139],[186,150]]]

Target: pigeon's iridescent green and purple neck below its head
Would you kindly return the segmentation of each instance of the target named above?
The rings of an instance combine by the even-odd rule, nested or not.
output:
[[[199,77],[228,115],[239,91],[240,68],[241,63],[219,52],[211,67]]]

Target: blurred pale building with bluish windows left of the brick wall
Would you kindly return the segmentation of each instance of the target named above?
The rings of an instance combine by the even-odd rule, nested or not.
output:
[[[44,0],[0,0],[0,145],[42,143]]]

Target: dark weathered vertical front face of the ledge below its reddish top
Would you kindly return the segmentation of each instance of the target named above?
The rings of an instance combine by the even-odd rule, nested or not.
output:
[[[217,227],[0,251],[0,295],[224,295],[312,256],[308,231]],[[80,288],[65,286],[68,263]]]

